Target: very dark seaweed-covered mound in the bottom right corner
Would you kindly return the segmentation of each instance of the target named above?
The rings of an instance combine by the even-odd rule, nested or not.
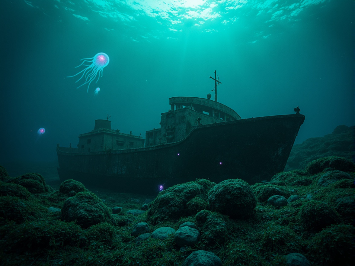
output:
[[[333,224],[315,234],[310,243],[310,253],[315,254],[319,265],[354,265],[354,227]]]

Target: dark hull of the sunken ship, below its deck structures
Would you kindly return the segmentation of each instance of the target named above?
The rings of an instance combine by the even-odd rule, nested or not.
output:
[[[239,178],[250,185],[284,170],[304,115],[282,115],[206,124],[186,138],[153,147],[78,153],[57,148],[62,181],[122,192],[151,193],[196,178]]]

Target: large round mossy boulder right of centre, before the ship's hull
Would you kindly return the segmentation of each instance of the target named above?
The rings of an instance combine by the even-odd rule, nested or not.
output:
[[[211,211],[238,219],[250,217],[256,207],[253,190],[241,179],[228,179],[218,183],[209,190],[207,201]]]

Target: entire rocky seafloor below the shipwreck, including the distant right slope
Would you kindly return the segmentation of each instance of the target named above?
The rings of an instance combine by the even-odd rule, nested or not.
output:
[[[353,129],[295,145],[292,170],[269,182],[199,176],[153,196],[61,183],[56,163],[4,164],[0,265],[353,265]],[[185,222],[195,240],[153,233]],[[138,223],[147,224],[132,235]],[[220,260],[193,261],[198,250]]]

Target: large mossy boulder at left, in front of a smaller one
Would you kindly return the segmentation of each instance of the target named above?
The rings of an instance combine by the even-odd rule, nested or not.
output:
[[[61,219],[66,222],[75,221],[82,228],[103,222],[113,223],[111,209],[89,191],[67,198],[61,209]]]

